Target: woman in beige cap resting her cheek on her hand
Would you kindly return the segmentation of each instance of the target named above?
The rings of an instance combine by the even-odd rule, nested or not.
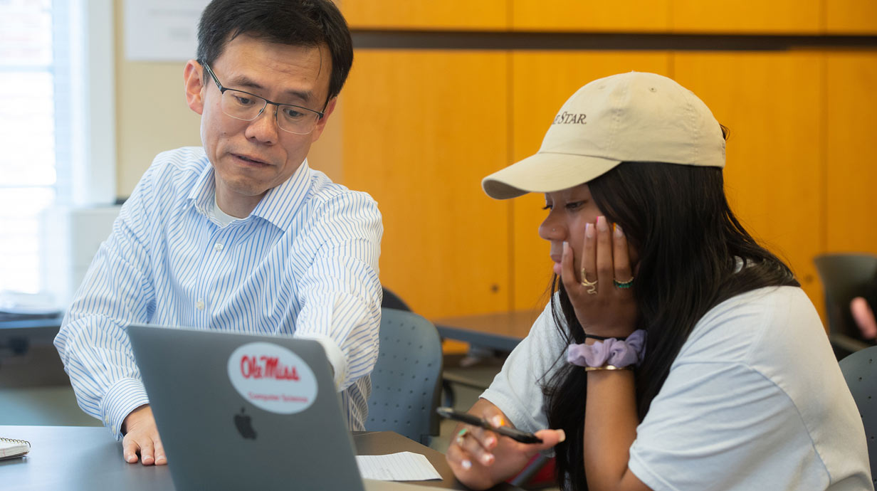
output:
[[[556,276],[470,412],[543,443],[460,425],[458,479],[490,487],[554,447],[568,489],[873,489],[816,310],[731,213],[723,167],[706,105],[630,73],[579,89],[536,155],[483,181],[545,194]]]

